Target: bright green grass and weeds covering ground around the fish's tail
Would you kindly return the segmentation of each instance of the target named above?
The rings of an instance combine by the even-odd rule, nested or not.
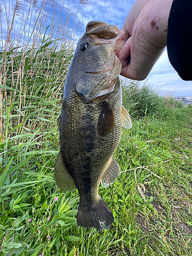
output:
[[[40,133],[20,147],[2,142],[2,255],[191,255],[191,117],[190,108],[172,109],[168,120],[145,117],[123,129],[115,153],[122,173],[99,189],[115,217],[103,233],[78,227],[77,191],[55,186],[57,116],[38,146]]]

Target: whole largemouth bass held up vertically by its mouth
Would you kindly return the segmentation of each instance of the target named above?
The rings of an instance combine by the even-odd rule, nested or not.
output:
[[[132,126],[122,106],[121,62],[116,56],[127,38],[116,26],[88,23],[66,76],[58,118],[56,184],[63,190],[78,189],[77,224],[101,231],[108,229],[114,218],[98,194],[99,183],[107,187],[119,176],[113,153],[122,125]]]

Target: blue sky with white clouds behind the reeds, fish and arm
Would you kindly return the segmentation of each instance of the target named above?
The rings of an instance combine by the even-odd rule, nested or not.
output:
[[[101,20],[103,22],[113,24],[121,28],[123,26],[124,20],[132,7],[132,5],[136,2],[136,0],[89,0],[90,4],[86,4],[86,0],[79,2],[79,0],[70,0],[68,2],[64,0],[52,1],[52,4],[48,4],[44,12],[41,15],[47,15],[46,26],[50,25],[53,10],[55,9],[55,14],[60,13],[58,16],[60,23],[59,31],[55,31],[55,37],[62,38],[66,33],[66,28],[63,26],[63,20],[67,18],[65,13],[70,14],[69,28],[68,33],[71,34],[72,29],[75,31],[75,37],[79,39],[80,36],[85,31],[86,25],[90,20]],[[16,0],[6,2],[7,10],[10,9],[9,23],[12,19],[12,7],[15,5]],[[8,8],[9,3],[12,3],[13,6]],[[24,3],[24,12],[21,12],[21,16],[15,17],[15,32],[19,33],[19,28],[22,24],[22,28],[24,28],[23,17],[26,16],[29,10],[29,3],[27,1],[23,1]],[[56,4],[57,3],[57,4]],[[79,4],[81,3],[81,4]],[[4,0],[0,0],[0,4],[4,6]],[[37,13],[40,7],[41,2],[37,2]],[[39,6],[38,6],[39,5]],[[4,34],[7,34],[7,19],[5,8],[2,11],[2,30]],[[60,11],[59,11],[60,10]],[[67,10],[67,12],[66,12]],[[78,12],[77,12],[78,11]],[[31,26],[29,23],[25,25],[25,31],[29,35],[32,33],[32,27],[35,22],[35,13],[32,13]],[[79,27],[79,24],[82,23],[82,31]],[[45,28],[46,28],[45,26]],[[39,28],[38,28],[39,29]],[[74,38],[75,38],[74,37]],[[4,42],[5,38],[2,38]],[[151,73],[147,77],[148,82],[154,84],[155,87],[162,88],[163,90],[177,90],[177,95],[188,95],[192,96],[192,82],[191,81],[183,81],[174,70],[174,68],[170,65],[170,62],[167,57],[167,51],[163,52]]]

